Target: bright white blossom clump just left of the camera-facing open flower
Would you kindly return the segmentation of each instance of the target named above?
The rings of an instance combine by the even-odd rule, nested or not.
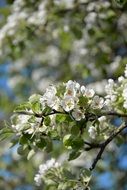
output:
[[[56,93],[57,90],[54,86],[47,88],[45,94],[40,98],[41,104],[44,105],[44,103],[46,103],[49,107],[58,109],[59,99],[56,96]]]

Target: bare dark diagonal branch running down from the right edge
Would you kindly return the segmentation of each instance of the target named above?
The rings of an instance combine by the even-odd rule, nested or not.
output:
[[[127,125],[121,125],[120,127],[118,127],[113,133],[112,135],[105,141],[103,142],[101,145],[100,145],[100,151],[98,152],[96,158],[94,159],[93,163],[92,163],[92,166],[90,167],[90,170],[92,171],[98,161],[101,159],[101,156],[106,148],[106,146],[119,134],[121,133],[121,131],[123,131],[125,128],[127,128]],[[91,145],[92,146],[92,145]]]

